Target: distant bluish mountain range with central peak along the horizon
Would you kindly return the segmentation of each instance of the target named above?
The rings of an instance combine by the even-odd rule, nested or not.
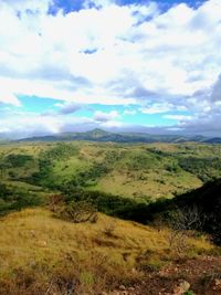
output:
[[[179,136],[179,135],[150,135],[145,133],[110,133],[103,129],[93,129],[85,133],[62,133],[56,135],[29,137],[17,141],[113,141],[113,143],[206,143],[221,144],[220,137],[208,138],[204,136]]]

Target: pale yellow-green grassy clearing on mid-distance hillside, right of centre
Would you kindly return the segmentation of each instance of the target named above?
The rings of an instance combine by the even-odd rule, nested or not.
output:
[[[123,197],[173,197],[173,193],[183,193],[189,189],[198,188],[201,180],[189,172],[172,175],[167,171],[113,171],[101,178],[93,190],[101,190]]]

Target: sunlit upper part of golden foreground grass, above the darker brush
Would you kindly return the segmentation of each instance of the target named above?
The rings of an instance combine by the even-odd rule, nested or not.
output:
[[[46,267],[53,268],[66,256],[87,268],[88,263],[93,264],[88,262],[90,256],[95,253],[107,256],[104,263],[110,268],[117,264],[125,274],[125,270],[135,266],[136,257],[143,252],[148,251],[154,256],[168,253],[167,229],[158,231],[115,219],[114,231],[107,235],[104,230],[112,221],[113,218],[99,214],[96,223],[75,224],[56,219],[44,209],[11,213],[0,223],[0,275],[10,274],[14,267],[29,268],[39,263],[46,263]],[[212,249],[203,239],[192,239],[190,243],[196,253]],[[173,255],[172,252],[170,255]]]

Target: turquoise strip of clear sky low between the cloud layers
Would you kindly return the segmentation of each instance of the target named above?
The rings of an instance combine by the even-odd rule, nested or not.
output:
[[[11,110],[13,112],[22,112],[24,114],[33,114],[33,115],[48,115],[53,114],[54,116],[61,114],[61,109],[64,109],[64,105],[62,101],[59,99],[52,99],[46,97],[34,97],[34,96],[18,96],[21,106],[13,106],[11,107]],[[36,103],[33,104],[33,101]],[[108,122],[108,114],[112,114],[113,112],[117,112],[116,118],[120,117],[120,120],[123,120],[125,124],[137,124],[137,125],[147,125],[147,126],[172,126],[177,119],[176,116],[188,116],[190,115],[190,112],[187,110],[168,110],[164,112],[164,116],[161,116],[159,113],[148,114],[148,116],[141,112],[139,105],[133,105],[133,106],[123,106],[123,105],[102,105],[102,104],[90,104],[87,106],[85,105],[76,105],[76,108],[72,109],[73,104],[66,105],[67,112],[65,112],[65,116],[71,119],[74,118],[82,118],[82,117],[93,117],[94,114],[101,113],[101,114],[107,114],[107,120],[106,117],[102,117],[98,122],[105,123]],[[70,110],[69,110],[70,109]],[[171,116],[171,118],[170,118]],[[173,117],[175,116],[175,117]],[[115,117],[115,116],[114,116]]]

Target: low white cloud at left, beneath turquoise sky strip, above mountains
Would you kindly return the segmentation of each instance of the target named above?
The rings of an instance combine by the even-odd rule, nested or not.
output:
[[[40,115],[9,110],[10,116],[0,118],[0,135],[12,138],[24,138],[32,136],[45,136],[66,131],[85,131],[93,128],[107,128],[124,126],[118,120],[119,115],[113,110],[109,113],[95,112],[94,118],[56,115],[53,112]]]

